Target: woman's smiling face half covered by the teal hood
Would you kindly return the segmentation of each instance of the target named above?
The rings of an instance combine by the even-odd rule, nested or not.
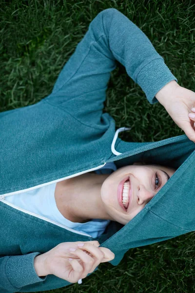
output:
[[[175,169],[169,167],[142,165],[141,163],[118,168],[106,178],[101,187],[101,199],[106,212],[115,221],[123,225],[127,224],[166,184],[175,171]],[[120,182],[128,177],[130,181],[130,200],[127,209],[125,209],[118,202],[117,191]],[[121,190],[123,190],[123,187]]]

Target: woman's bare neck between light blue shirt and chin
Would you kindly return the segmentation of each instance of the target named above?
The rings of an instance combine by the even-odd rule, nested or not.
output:
[[[113,220],[101,200],[101,186],[109,175],[90,172],[57,183],[55,199],[61,214],[75,223]]]

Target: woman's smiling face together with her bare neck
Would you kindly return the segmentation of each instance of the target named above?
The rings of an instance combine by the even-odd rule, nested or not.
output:
[[[113,163],[112,167],[116,168],[116,165]],[[72,222],[89,223],[91,219],[104,219],[125,225],[145,207],[174,172],[175,169],[169,167],[134,163],[118,168],[111,175],[96,174],[98,171],[86,173],[56,184],[56,204],[60,213]],[[118,189],[126,177],[126,187]],[[117,198],[119,190],[123,194],[121,205]]]

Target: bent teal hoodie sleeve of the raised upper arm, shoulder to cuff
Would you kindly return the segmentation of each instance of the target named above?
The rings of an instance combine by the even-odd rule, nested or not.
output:
[[[172,80],[177,82],[137,25],[117,9],[108,8],[91,21],[45,100],[86,124],[95,116],[99,118],[116,60],[141,87],[150,104],[158,102],[155,95],[162,87]]]

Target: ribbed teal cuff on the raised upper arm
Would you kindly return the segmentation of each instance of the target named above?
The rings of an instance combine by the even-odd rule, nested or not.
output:
[[[155,59],[145,65],[137,75],[136,83],[144,91],[150,104],[158,102],[155,95],[169,82],[175,80],[176,77],[171,73],[170,69],[162,59]]]

